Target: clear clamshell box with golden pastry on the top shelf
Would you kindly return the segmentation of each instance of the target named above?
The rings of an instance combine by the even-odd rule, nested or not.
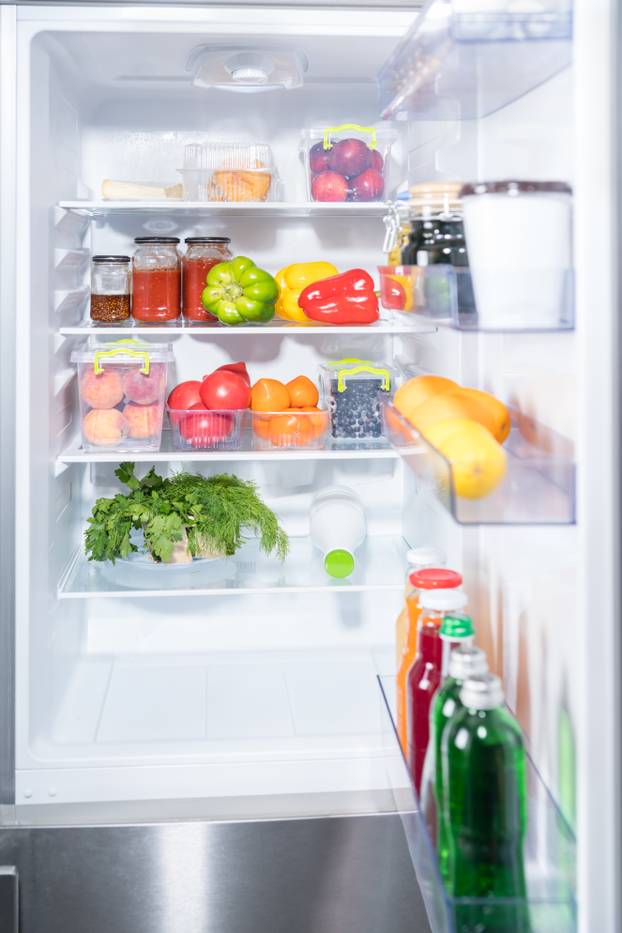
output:
[[[267,143],[206,143],[184,150],[186,201],[276,201],[278,176]]]

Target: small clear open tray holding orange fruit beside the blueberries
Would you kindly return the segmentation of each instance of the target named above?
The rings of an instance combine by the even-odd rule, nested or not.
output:
[[[251,412],[253,446],[257,450],[307,448],[323,450],[330,431],[330,412],[254,411]]]

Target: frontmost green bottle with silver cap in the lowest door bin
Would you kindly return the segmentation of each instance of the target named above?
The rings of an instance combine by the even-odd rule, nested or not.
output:
[[[501,681],[493,674],[466,680],[462,708],[443,733],[447,887],[453,898],[469,899],[456,906],[457,929],[528,933],[525,748],[503,700]]]

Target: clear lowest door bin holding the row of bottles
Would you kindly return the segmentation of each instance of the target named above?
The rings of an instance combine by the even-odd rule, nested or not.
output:
[[[409,781],[406,764],[402,760],[400,773],[393,760],[400,755],[394,716],[395,678],[379,677],[378,680],[387,711],[387,742],[392,743],[394,752],[390,759],[391,780],[434,933],[574,933],[576,841],[529,756],[524,848],[527,899],[452,898],[447,893],[414,788],[410,786],[410,801],[405,794]],[[528,922],[524,921],[525,914]]]

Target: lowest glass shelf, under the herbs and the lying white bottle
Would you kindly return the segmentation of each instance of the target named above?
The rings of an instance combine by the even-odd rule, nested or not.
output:
[[[59,585],[60,599],[91,597],[235,596],[276,593],[357,593],[404,587],[408,544],[393,535],[369,536],[357,551],[351,577],[336,580],[324,570],[322,555],[309,538],[290,538],[281,563],[266,557],[257,541],[233,557],[159,567],[133,561],[95,563],[77,551]]]

